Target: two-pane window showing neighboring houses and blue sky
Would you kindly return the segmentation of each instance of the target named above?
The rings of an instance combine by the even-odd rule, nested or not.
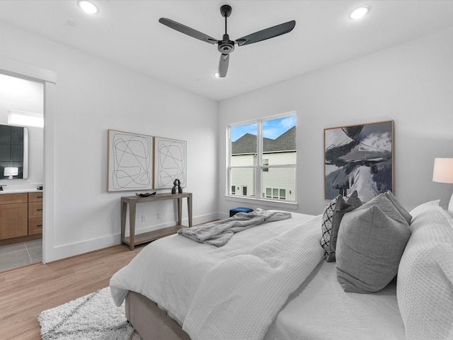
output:
[[[296,200],[296,120],[292,113],[228,127],[228,195]]]

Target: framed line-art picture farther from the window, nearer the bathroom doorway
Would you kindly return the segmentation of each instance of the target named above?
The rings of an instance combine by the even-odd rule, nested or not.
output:
[[[108,130],[108,191],[153,188],[153,137]]]

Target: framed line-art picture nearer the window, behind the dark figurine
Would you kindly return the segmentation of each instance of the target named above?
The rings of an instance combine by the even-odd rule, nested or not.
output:
[[[187,186],[187,142],[154,137],[154,188],[172,188],[179,179],[180,186]]]

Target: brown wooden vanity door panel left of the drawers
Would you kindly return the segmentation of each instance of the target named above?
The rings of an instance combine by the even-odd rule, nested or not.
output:
[[[0,239],[28,234],[28,194],[0,195]]]

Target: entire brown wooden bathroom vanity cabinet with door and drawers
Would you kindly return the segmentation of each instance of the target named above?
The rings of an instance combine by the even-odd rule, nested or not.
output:
[[[0,240],[42,234],[42,192],[0,194]]]

